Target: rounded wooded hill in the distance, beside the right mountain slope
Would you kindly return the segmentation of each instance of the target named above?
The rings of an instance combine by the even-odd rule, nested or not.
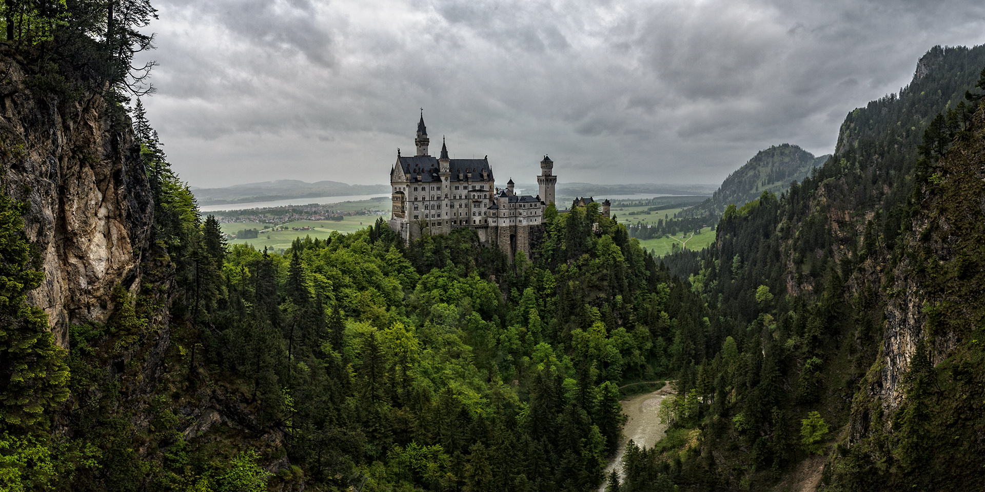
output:
[[[683,215],[722,215],[732,204],[742,207],[762,192],[777,196],[790,187],[793,180],[803,181],[811,175],[811,169],[821,167],[829,154],[815,156],[800,147],[783,144],[759,151],[739,170],[722,181],[711,198],[686,211]]]

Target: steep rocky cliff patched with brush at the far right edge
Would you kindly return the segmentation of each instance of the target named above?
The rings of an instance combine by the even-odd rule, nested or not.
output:
[[[985,285],[985,106],[969,132],[921,183],[920,208],[904,238],[886,306],[882,373],[889,407],[898,382],[924,339],[936,365],[981,326]]]

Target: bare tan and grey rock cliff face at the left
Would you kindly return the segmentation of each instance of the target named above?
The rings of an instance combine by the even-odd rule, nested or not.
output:
[[[0,53],[0,73],[3,181],[31,206],[25,229],[45,275],[29,301],[66,346],[70,324],[106,321],[114,285],[139,288],[151,190],[129,125],[111,124],[99,94],[41,94],[9,53]]]

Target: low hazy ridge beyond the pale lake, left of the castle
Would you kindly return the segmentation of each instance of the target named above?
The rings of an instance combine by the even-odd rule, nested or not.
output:
[[[244,204],[293,198],[341,197],[389,193],[387,185],[351,185],[338,181],[306,183],[296,179],[278,179],[247,183],[225,188],[191,188],[199,205]]]

